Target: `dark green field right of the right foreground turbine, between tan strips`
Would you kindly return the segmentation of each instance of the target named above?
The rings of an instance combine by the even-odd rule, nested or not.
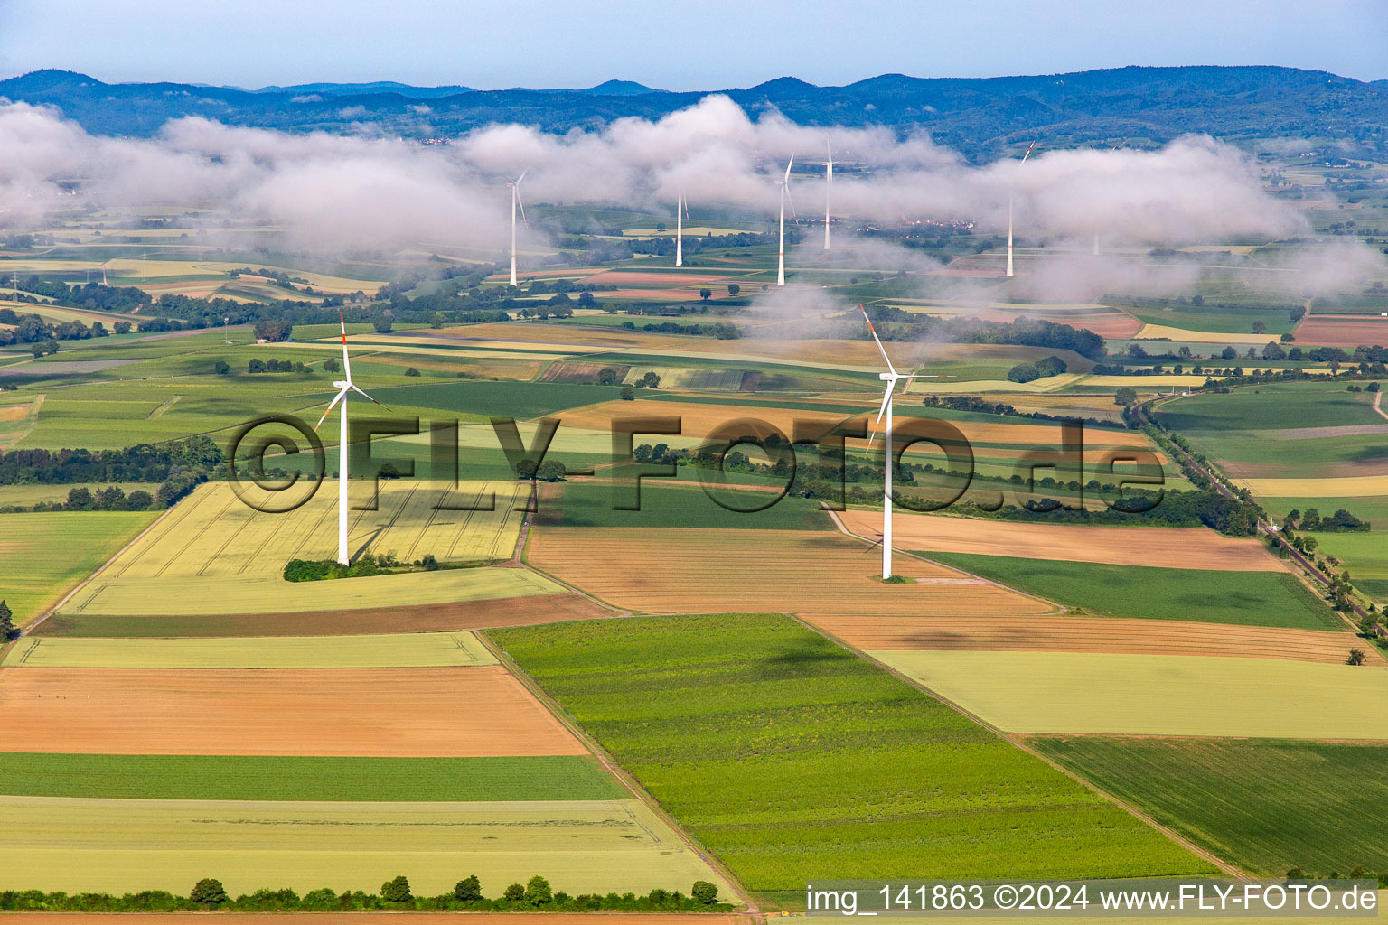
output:
[[[924,555],[1067,607],[1115,617],[1346,628],[1345,621],[1294,576],[1280,571],[1109,566],[962,552]]]

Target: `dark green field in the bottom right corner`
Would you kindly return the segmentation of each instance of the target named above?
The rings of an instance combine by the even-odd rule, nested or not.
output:
[[[1047,757],[1259,876],[1388,871],[1388,746],[1037,738]]]

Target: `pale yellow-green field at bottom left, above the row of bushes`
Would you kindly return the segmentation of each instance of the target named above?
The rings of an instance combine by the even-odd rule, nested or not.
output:
[[[261,888],[307,893],[322,886],[375,894],[383,879],[405,874],[415,893],[437,896],[476,874],[487,893],[500,894],[505,883],[525,883],[543,872],[555,890],[570,893],[688,890],[704,879],[733,894],[636,799],[316,803],[0,796],[0,850],[11,858],[7,882],[43,890],[162,889],[183,896],[200,878],[215,875],[232,894]],[[254,917],[236,915],[243,918]],[[418,918],[396,914],[390,921]],[[619,921],[640,925],[644,918]],[[205,914],[186,919],[200,921]],[[454,914],[450,921],[461,919]],[[583,921],[613,919],[584,915]]]

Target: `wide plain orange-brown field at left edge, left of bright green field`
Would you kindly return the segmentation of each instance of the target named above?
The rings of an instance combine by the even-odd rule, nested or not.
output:
[[[0,668],[0,752],[584,754],[505,668]]]

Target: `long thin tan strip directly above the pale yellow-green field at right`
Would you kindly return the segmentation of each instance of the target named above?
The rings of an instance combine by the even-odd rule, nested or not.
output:
[[[1123,652],[1210,655],[1344,664],[1352,637],[1319,630],[1235,627],[1112,617],[852,617],[804,619],[865,652]],[[1373,657],[1373,656],[1370,656]]]

